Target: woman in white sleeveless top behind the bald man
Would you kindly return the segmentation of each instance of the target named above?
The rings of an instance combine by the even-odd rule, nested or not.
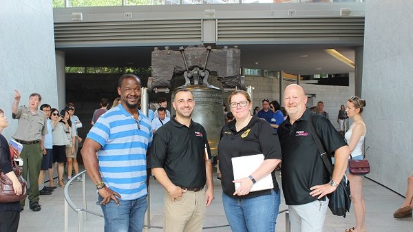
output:
[[[366,124],[364,124],[361,113],[366,107],[366,101],[358,96],[352,96],[347,101],[346,113],[352,119],[352,125],[345,134],[348,147],[350,147],[350,156],[353,160],[363,160],[363,143],[366,136]],[[366,205],[363,199],[363,175],[354,175],[348,173],[350,180],[350,192],[354,205],[354,215],[356,217],[356,226],[346,229],[346,232],[365,232],[366,231]]]

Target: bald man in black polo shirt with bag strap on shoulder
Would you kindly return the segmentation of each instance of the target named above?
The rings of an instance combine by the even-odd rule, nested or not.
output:
[[[293,232],[323,231],[328,208],[325,196],[337,189],[346,171],[350,150],[330,121],[306,109],[307,97],[299,85],[288,85],[284,106],[288,118],[279,125],[282,148],[282,189],[290,213]],[[328,153],[335,152],[332,178],[324,167],[315,140],[309,131],[310,115]]]

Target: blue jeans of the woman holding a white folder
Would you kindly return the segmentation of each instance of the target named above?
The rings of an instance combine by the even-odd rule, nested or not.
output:
[[[222,193],[226,220],[233,232],[274,232],[279,209],[279,191],[255,198],[234,199]]]

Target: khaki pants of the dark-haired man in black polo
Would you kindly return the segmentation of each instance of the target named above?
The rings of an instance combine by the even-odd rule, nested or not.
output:
[[[163,227],[165,232],[201,232],[205,217],[205,189],[187,191],[172,202],[165,191]]]

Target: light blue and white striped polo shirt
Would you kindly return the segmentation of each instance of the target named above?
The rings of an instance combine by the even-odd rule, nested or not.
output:
[[[120,200],[147,195],[146,154],[152,144],[151,122],[147,116],[139,111],[139,118],[135,120],[118,105],[98,118],[87,138],[102,146],[97,153],[100,175],[109,189],[122,196]]]

